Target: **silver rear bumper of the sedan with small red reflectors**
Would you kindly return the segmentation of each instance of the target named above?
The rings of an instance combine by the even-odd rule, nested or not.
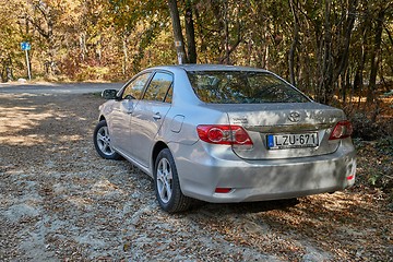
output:
[[[174,155],[183,194],[206,202],[289,199],[343,190],[355,183],[352,143],[342,144],[333,154],[285,160],[243,160],[230,147],[207,155],[202,147],[181,146]],[[231,190],[215,193],[216,188]]]

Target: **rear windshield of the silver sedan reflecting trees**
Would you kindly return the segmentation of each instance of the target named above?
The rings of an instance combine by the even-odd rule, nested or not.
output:
[[[305,103],[300,92],[265,72],[189,71],[196,96],[212,104]]]

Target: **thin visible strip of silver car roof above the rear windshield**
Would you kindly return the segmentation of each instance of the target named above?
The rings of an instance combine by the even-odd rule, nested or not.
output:
[[[162,69],[162,70],[171,70],[171,69],[183,69],[184,71],[252,71],[252,72],[269,72],[264,69],[251,68],[251,67],[240,67],[240,66],[227,66],[227,64],[174,64],[174,66],[160,66],[154,67],[151,69]]]

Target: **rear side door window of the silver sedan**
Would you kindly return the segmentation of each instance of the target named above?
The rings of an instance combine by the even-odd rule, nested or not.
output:
[[[171,102],[174,78],[169,73],[157,72],[150,82],[143,96],[144,100]]]

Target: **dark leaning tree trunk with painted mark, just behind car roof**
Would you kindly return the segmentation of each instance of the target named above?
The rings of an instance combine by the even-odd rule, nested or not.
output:
[[[172,22],[174,38],[175,38],[175,48],[178,56],[179,64],[188,63],[183,36],[181,33],[179,10],[176,3],[176,0],[168,0],[169,13]]]

